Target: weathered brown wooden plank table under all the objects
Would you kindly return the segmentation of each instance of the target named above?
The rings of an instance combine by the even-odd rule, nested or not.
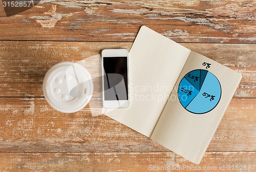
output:
[[[9,17],[0,6],[0,171],[256,171],[255,1],[50,0]],[[142,25],[243,75],[199,165],[89,105],[65,114],[44,98],[51,66],[129,50]]]

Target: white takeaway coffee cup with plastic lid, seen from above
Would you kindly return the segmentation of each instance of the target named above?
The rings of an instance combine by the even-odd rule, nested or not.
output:
[[[47,71],[42,90],[51,107],[63,113],[73,113],[84,108],[91,100],[93,81],[82,65],[61,62]]]

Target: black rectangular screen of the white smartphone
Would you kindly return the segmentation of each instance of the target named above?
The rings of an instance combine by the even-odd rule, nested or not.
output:
[[[104,100],[128,100],[127,57],[103,57]]]

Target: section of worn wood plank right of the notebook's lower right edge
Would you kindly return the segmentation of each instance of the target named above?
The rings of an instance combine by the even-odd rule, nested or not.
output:
[[[256,99],[232,99],[208,147],[213,151],[256,151]],[[231,142],[230,142],[231,141]],[[251,142],[252,141],[252,142]],[[222,146],[228,145],[228,149]],[[245,142],[250,142],[243,148]],[[232,148],[233,145],[234,147]]]

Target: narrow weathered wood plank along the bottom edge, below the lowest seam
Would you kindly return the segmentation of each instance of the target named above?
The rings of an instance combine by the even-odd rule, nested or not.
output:
[[[193,164],[174,153],[2,153],[0,171],[255,171],[255,152],[209,152]],[[238,169],[236,169],[236,166]],[[249,167],[249,169],[248,169]],[[230,168],[230,169],[229,169]],[[253,169],[252,169],[253,168]]]

